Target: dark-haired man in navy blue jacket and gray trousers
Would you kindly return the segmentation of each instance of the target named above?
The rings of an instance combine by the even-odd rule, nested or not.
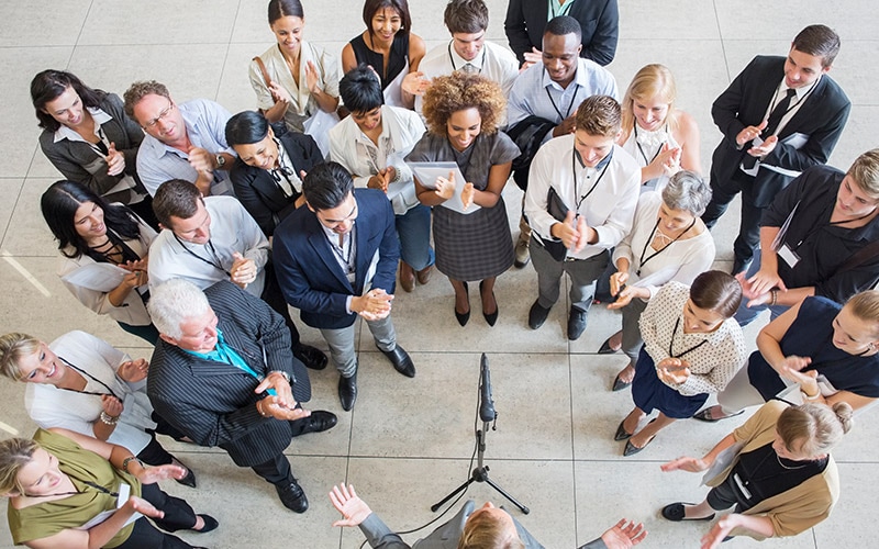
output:
[[[338,397],[349,411],[357,399],[358,315],[394,369],[415,376],[390,317],[400,258],[393,209],[380,190],[354,190],[354,180],[337,163],[312,168],[302,193],[308,208],[291,213],[275,231],[276,273],[287,302],[326,339],[341,374]]]

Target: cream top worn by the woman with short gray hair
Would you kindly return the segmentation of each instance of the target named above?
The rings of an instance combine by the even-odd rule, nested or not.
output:
[[[693,279],[709,270],[714,261],[714,238],[708,231],[703,231],[702,234],[692,238],[676,240],[656,254],[650,242],[661,204],[663,195],[659,192],[642,193],[635,210],[632,231],[613,251],[614,265],[621,257],[628,259],[628,281],[626,283],[632,287],[646,288],[650,292],[650,299],[656,295],[659,287],[669,280],[687,285],[691,284]],[[649,260],[642,264],[642,257],[649,258]],[[641,270],[641,274],[637,273],[638,270]]]

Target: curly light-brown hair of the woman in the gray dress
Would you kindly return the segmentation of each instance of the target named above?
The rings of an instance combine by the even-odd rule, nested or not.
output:
[[[507,109],[507,98],[497,82],[479,75],[458,70],[433,79],[424,92],[422,112],[432,134],[447,136],[446,123],[452,114],[476,109],[482,119],[480,133],[491,135]]]

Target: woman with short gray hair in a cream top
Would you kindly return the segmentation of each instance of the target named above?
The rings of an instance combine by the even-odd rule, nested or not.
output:
[[[711,188],[696,172],[681,170],[659,192],[645,192],[638,200],[632,232],[613,253],[616,272],[611,274],[608,309],[623,313],[623,329],[599,349],[611,354],[621,348],[628,365],[616,376],[613,390],[632,384],[635,362],[643,345],[638,320],[659,287],[669,281],[690,285],[714,261],[714,239],[699,217],[711,200]]]

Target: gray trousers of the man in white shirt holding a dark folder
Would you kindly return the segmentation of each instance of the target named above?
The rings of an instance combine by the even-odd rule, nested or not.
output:
[[[556,261],[543,246],[532,238],[531,260],[537,271],[537,303],[549,309],[558,301],[561,274],[570,277],[570,304],[580,311],[589,311],[592,295],[596,293],[596,280],[608,266],[608,250],[603,250],[588,259],[574,261]]]

